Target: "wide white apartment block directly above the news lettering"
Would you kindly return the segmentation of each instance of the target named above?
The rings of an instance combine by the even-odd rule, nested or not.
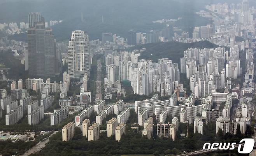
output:
[[[216,133],[218,132],[219,128],[222,129],[223,134],[226,134],[226,133],[237,134],[237,123],[230,122],[229,118],[219,117],[216,121]]]

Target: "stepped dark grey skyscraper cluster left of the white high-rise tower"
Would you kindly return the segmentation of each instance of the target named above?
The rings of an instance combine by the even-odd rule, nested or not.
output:
[[[56,43],[51,29],[45,29],[40,13],[28,14],[28,73],[37,77],[56,74]]]

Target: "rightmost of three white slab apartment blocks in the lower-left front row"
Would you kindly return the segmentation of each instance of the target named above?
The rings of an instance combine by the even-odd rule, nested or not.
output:
[[[63,107],[61,109],[54,110],[54,113],[51,115],[51,125],[56,125],[61,123],[65,118],[69,116],[69,109],[68,107]]]

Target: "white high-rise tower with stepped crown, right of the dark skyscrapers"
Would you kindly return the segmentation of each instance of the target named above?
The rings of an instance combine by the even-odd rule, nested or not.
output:
[[[89,37],[84,31],[72,32],[68,44],[68,73],[70,78],[79,78],[84,73],[90,75]]]

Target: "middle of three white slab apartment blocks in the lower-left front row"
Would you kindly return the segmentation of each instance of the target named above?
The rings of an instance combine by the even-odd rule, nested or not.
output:
[[[38,106],[32,113],[28,114],[28,124],[36,125],[44,118],[44,107]]]

